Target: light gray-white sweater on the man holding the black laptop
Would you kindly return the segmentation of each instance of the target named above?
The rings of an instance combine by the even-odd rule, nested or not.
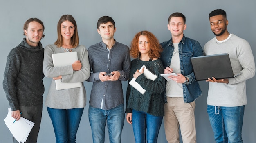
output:
[[[204,54],[228,53],[234,73],[242,72],[236,78],[229,78],[229,83],[209,82],[207,104],[213,106],[235,107],[247,104],[247,79],[255,74],[254,56],[249,43],[232,34],[227,41],[217,43],[216,37],[204,45]]]

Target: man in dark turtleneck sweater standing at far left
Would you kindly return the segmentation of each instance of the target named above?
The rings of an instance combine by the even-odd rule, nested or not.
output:
[[[23,34],[26,38],[10,51],[4,71],[3,88],[11,116],[16,121],[24,117],[35,123],[26,143],[37,142],[42,118],[44,49],[40,40],[45,36],[44,29],[43,22],[37,18],[25,22]],[[13,143],[18,143],[14,137]]]

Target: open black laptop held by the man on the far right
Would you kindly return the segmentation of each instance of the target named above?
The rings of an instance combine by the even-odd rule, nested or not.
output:
[[[196,80],[208,80],[212,77],[216,79],[234,78],[242,74],[233,73],[228,53],[198,56],[190,59]]]

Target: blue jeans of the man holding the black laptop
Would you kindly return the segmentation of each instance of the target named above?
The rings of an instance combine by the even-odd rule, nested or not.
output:
[[[207,105],[216,143],[243,143],[242,126],[245,105],[217,107]]]

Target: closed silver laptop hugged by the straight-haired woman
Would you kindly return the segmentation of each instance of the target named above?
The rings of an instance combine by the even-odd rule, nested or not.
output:
[[[77,52],[65,52],[65,53],[52,54],[52,63],[54,67],[72,65],[77,60],[78,60]],[[55,84],[56,84],[57,90],[81,87],[81,82],[63,83],[61,82],[61,79],[55,80]]]

